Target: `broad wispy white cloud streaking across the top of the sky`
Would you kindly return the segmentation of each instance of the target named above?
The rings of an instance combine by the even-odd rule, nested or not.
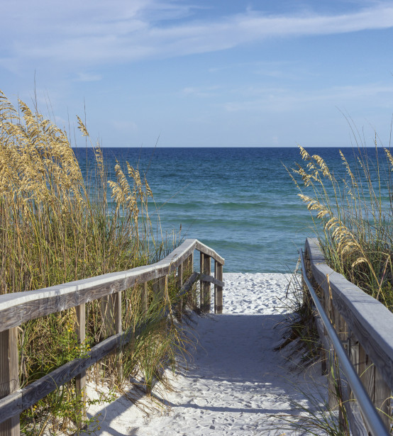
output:
[[[0,57],[10,66],[26,61],[75,62],[80,69],[213,52],[272,37],[393,27],[390,2],[338,15],[272,15],[245,9],[196,21],[193,11],[192,5],[169,0],[23,0],[17,8],[6,3]]]

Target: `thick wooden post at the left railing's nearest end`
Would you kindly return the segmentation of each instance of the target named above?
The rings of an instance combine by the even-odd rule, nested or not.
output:
[[[0,398],[19,388],[18,328],[0,332]],[[19,415],[0,424],[0,436],[20,435]]]

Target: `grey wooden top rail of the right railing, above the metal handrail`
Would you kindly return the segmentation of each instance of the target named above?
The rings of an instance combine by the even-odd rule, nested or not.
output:
[[[328,267],[316,240],[308,238],[306,250],[310,253],[316,281],[327,289],[326,274],[329,275],[333,305],[358,338],[389,389],[393,390],[393,313]]]

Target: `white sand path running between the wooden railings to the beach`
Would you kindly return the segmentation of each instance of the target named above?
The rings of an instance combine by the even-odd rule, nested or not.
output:
[[[174,379],[175,391],[155,391],[166,408],[147,416],[121,396],[114,403],[91,406],[101,413],[94,434],[126,435],[294,435],[277,415],[299,415],[292,401],[310,407],[299,391],[325,385],[318,368],[293,369],[281,352],[287,308],[287,274],[224,274],[222,315],[196,318],[198,344],[188,370]],[[132,394],[132,393],[131,393]],[[148,406],[147,398],[142,403]],[[273,415],[273,416],[272,416]]]

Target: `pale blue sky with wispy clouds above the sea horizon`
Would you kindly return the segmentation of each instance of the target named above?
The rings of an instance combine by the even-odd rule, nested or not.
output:
[[[14,0],[0,89],[103,147],[389,146],[393,1]]]

